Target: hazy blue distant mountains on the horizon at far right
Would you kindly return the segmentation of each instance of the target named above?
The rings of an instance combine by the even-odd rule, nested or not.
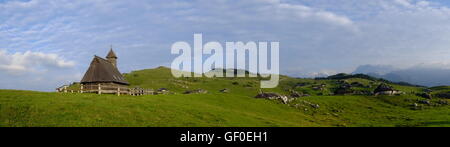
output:
[[[363,65],[353,74],[367,74],[393,82],[408,82],[423,86],[450,85],[450,69],[436,66],[414,66],[407,69],[395,69],[390,66]]]

